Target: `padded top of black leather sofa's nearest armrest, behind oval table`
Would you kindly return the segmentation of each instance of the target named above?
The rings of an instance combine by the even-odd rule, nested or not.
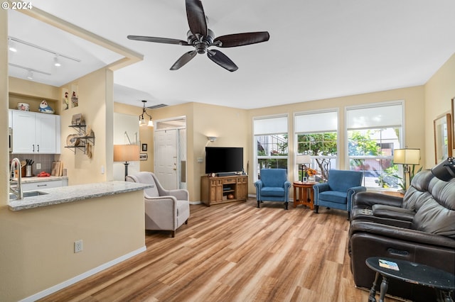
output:
[[[432,233],[425,233],[419,230],[399,228],[392,225],[383,225],[379,223],[353,220],[350,223],[350,234],[353,235],[355,233],[361,232],[391,237],[396,240],[416,242],[423,245],[436,245],[440,247],[449,247],[455,249],[455,240],[449,237],[435,235]]]

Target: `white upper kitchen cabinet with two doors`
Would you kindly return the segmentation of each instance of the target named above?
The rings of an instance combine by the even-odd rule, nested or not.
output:
[[[12,110],[13,153],[60,153],[60,116]]]

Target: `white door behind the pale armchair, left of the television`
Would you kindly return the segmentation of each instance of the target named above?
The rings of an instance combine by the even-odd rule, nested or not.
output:
[[[178,189],[177,130],[155,131],[155,174],[166,190]]]

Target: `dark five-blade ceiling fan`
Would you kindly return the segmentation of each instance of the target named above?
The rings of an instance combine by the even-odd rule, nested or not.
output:
[[[178,44],[184,46],[193,46],[195,49],[183,54],[171,67],[171,70],[176,70],[186,63],[190,62],[196,55],[207,53],[210,60],[228,69],[230,72],[235,72],[238,69],[237,65],[230,60],[223,52],[219,50],[210,50],[208,47],[237,47],[261,43],[269,40],[267,31],[259,31],[255,33],[234,33],[232,35],[222,35],[214,38],[215,34],[207,27],[207,19],[205,17],[202,2],[200,0],[186,0],[186,17],[190,30],[187,33],[187,40],[178,40],[172,38],[157,38],[144,35],[128,35],[129,40],[139,40],[155,43]]]

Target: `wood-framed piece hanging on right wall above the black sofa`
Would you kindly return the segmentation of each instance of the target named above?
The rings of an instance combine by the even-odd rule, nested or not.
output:
[[[434,160],[439,164],[452,156],[452,121],[446,113],[434,120]]]

